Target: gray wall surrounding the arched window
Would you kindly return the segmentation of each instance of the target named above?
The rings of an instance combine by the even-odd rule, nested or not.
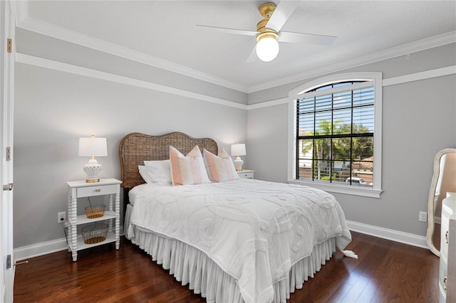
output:
[[[452,44],[340,73],[382,72],[387,79],[455,64]],[[289,90],[309,80],[251,93],[249,104],[285,98]],[[455,117],[454,74],[383,87],[383,193],[380,198],[334,193],[346,218],[425,236],[427,223],[418,221],[418,213],[427,211],[435,154],[456,147]],[[286,181],[288,123],[286,104],[249,110],[247,159],[257,179]]]

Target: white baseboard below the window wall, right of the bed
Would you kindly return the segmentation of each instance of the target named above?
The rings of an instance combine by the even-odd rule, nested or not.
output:
[[[367,225],[364,223],[358,223],[348,221],[348,228],[358,233],[364,233],[366,235],[373,235],[374,237],[392,240],[399,243],[417,246],[418,248],[428,248],[426,243],[426,237],[423,235],[414,235],[413,233],[404,233],[398,230],[392,230],[388,228],[380,228],[374,225]]]

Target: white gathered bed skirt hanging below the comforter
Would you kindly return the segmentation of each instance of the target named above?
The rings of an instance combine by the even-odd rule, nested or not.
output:
[[[125,228],[130,225],[132,206],[125,213]],[[244,302],[237,281],[224,272],[207,255],[179,240],[157,235],[150,230],[135,228],[131,242],[138,245],[152,260],[170,270],[170,275],[182,285],[189,285],[195,294],[201,294],[207,302]],[[289,277],[274,283],[275,303],[286,303],[290,293],[301,289],[304,281],[321,269],[336,251],[336,240],[331,238],[314,247],[311,255],[291,267]]]

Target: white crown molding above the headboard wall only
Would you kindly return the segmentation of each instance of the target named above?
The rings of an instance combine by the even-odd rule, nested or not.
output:
[[[103,41],[98,38],[93,38],[83,33],[71,31],[67,28],[62,28],[60,26],[56,26],[54,24],[47,23],[36,18],[23,18],[23,20],[17,25],[17,27],[24,29],[26,31],[32,31],[34,33],[39,33],[44,36],[49,36],[51,38],[56,38],[62,41],[73,43],[78,46],[91,48],[93,50],[99,50],[104,53],[109,53],[111,55],[117,55],[120,58],[137,61],[139,63],[150,65],[155,68],[168,70],[172,73],[179,73],[180,75],[186,75],[197,80],[206,81],[215,85],[221,85],[232,90],[247,92],[247,86],[245,85],[233,83],[231,81],[224,80],[217,76],[210,75],[208,73],[203,73],[199,70],[187,68],[184,65],[172,63],[170,61],[163,60],[152,55],[147,55],[145,53],[141,53],[130,48],[119,46],[118,44]]]

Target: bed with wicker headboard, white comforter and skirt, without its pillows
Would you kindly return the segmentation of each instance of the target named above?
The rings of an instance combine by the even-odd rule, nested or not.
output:
[[[187,156],[197,147],[204,161],[223,152],[213,139],[182,132],[126,135],[119,146],[125,233],[207,302],[286,302],[350,243],[341,206],[315,188],[237,177],[145,182],[138,168],[170,159],[170,146]]]

